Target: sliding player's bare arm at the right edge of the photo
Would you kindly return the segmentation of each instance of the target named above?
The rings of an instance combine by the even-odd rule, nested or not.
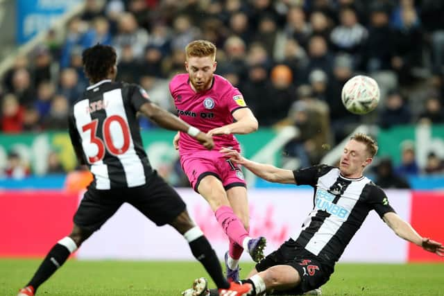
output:
[[[400,236],[400,238],[404,238],[404,240],[414,243],[415,245],[422,247],[422,249],[435,253],[438,256],[444,256],[444,246],[441,243],[420,236],[418,232],[416,232],[409,223],[402,220],[398,214],[388,212],[384,214],[383,219],[388,227],[393,229],[395,234]]]

